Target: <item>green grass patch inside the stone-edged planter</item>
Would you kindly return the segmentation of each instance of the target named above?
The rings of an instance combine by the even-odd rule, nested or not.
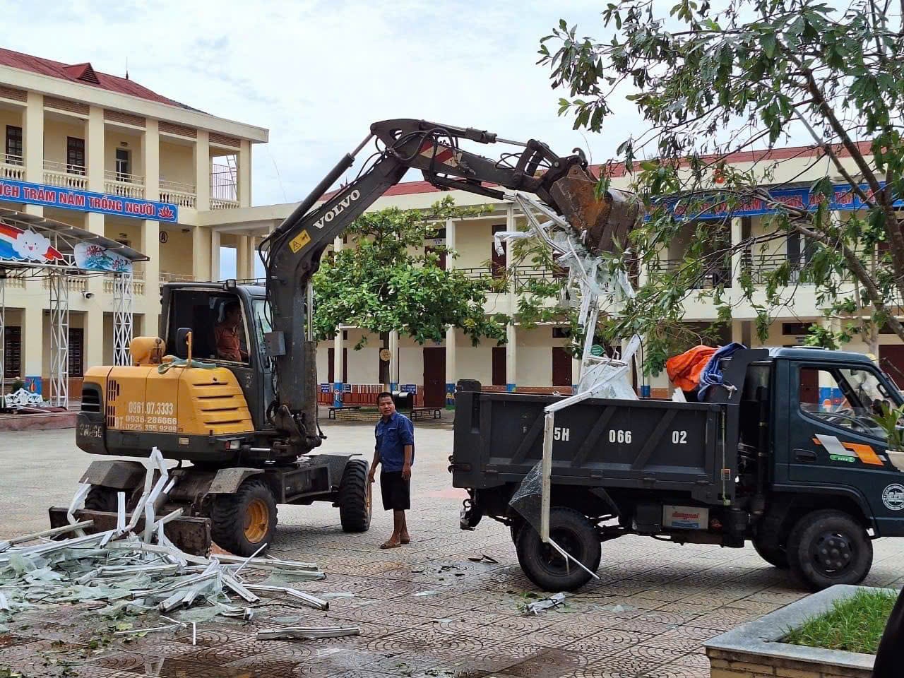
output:
[[[836,600],[833,608],[803,626],[788,631],[783,643],[876,654],[885,625],[898,594],[889,591],[857,591]]]

